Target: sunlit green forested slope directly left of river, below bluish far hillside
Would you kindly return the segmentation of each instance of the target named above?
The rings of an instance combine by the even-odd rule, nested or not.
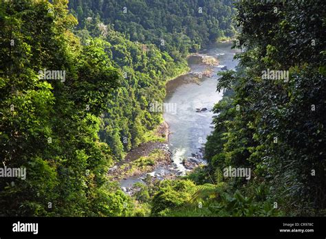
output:
[[[115,159],[123,159],[131,148],[149,140],[151,131],[162,122],[162,113],[151,112],[151,104],[163,102],[165,83],[186,71],[186,62],[175,62],[155,45],[133,43],[107,26],[106,36],[98,30],[98,19],[89,20],[87,30],[76,34],[89,45],[90,36],[105,47],[113,67],[120,68],[120,87],[111,92],[107,110],[102,115],[100,139],[109,144]],[[87,34],[86,34],[87,32]]]

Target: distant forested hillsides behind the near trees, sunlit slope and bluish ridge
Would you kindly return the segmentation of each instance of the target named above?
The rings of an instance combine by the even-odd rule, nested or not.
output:
[[[124,73],[100,130],[116,159],[148,141],[145,133],[162,122],[150,105],[164,100],[166,80],[188,70],[186,55],[235,34],[235,9],[217,1],[69,1],[69,8],[82,42],[109,43],[109,56]]]

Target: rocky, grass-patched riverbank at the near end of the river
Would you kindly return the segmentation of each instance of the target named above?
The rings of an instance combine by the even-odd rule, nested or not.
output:
[[[133,187],[134,183],[175,179],[182,176],[182,172],[171,158],[172,152],[167,144],[170,134],[169,125],[163,122],[157,127],[155,134],[164,137],[165,140],[141,144],[131,150],[123,161],[109,169],[109,179],[120,181],[121,189],[129,195],[133,195],[137,190]],[[182,161],[184,168],[191,171],[206,164],[203,155],[202,148],[199,148],[199,151],[192,153],[191,157],[184,158]]]

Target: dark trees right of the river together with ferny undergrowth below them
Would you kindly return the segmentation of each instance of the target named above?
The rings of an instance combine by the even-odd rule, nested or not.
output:
[[[217,83],[224,98],[208,166],[150,185],[151,213],[325,216],[325,1],[241,1],[237,9],[235,47],[245,51]],[[250,178],[228,177],[228,168],[250,169]]]

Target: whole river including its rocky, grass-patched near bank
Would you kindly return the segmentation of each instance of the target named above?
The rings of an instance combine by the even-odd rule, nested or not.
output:
[[[165,122],[155,129],[156,136],[150,133],[145,137],[149,141],[131,150],[109,171],[111,180],[118,181],[124,192],[133,194],[134,183],[175,179],[206,164],[203,148],[212,130],[212,109],[222,96],[215,91],[217,72],[234,68],[234,55],[230,43],[204,49],[199,57],[215,58],[221,65],[188,60],[191,71],[166,82],[164,103],[177,105],[177,111],[164,111]]]

